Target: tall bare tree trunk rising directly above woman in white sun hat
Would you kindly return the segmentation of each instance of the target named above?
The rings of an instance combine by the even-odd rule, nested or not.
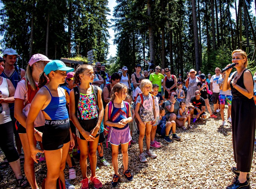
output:
[[[196,63],[196,70],[198,72],[198,70],[200,70],[200,53],[199,53],[199,38],[198,38],[198,28],[197,28],[196,0],[191,0],[191,4],[192,4],[193,30],[194,30],[194,42],[195,42],[195,63]]]

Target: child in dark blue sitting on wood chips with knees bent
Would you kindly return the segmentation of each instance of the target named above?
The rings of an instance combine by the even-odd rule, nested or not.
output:
[[[167,117],[165,115],[165,109],[162,107],[159,107],[159,112],[162,117],[160,123],[157,125],[157,130],[156,132],[158,135],[161,135],[164,137],[164,140],[167,143],[172,143],[172,140],[170,139],[169,135],[171,134],[172,131],[172,138],[175,140],[179,140],[181,137],[177,136],[175,131],[176,131],[176,123],[175,121],[167,121]]]

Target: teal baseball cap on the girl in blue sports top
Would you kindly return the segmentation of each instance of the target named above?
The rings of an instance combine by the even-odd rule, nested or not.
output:
[[[64,62],[60,60],[52,60],[46,64],[44,67],[44,73],[45,75],[48,75],[52,71],[61,70],[66,71],[67,73],[74,71],[74,68],[67,67]]]

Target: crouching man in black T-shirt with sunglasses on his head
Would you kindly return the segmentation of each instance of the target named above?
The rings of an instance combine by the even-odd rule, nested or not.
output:
[[[199,90],[196,90],[195,96],[191,97],[189,102],[189,113],[191,117],[193,117],[193,115],[196,115],[197,119],[199,117],[206,119],[205,101],[200,95],[201,92]]]

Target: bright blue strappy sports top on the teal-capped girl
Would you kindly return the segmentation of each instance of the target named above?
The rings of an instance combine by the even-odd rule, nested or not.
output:
[[[52,93],[47,88],[47,86],[44,86],[50,93],[52,99],[51,102],[48,104],[48,106],[43,110],[49,117],[51,117],[52,120],[64,120],[68,119],[68,110],[66,108],[66,97],[63,94],[63,96],[52,96]]]

